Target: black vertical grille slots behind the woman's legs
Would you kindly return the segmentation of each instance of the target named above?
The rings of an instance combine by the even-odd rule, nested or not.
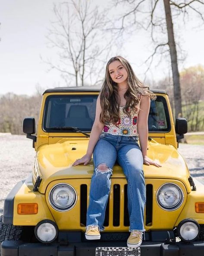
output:
[[[80,222],[81,226],[86,226],[86,212],[87,212],[87,185],[81,185],[80,191]],[[120,202],[121,185],[113,185],[113,226],[118,227],[120,224]],[[152,223],[152,204],[153,204],[153,186],[151,184],[146,185],[146,211],[145,211],[145,224],[150,225]],[[110,198],[107,202],[106,214],[104,220],[104,226],[109,225],[109,211],[110,211]],[[129,227],[129,213],[128,213],[128,196],[127,196],[127,184],[124,185],[124,219],[123,224],[125,227]]]

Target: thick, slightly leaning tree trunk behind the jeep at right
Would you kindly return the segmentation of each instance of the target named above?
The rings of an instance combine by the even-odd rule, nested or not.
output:
[[[177,63],[176,44],[173,33],[173,22],[171,16],[171,8],[169,0],[163,0],[164,9],[166,14],[166,27],[168,33],[168,45],[171,56],[171,66],[173,73],[173,93],[174,93],[174,106],[175,106],[175,118],[182,116],[182,103],[181,103],[181,88],[179,81],[179,69]]]

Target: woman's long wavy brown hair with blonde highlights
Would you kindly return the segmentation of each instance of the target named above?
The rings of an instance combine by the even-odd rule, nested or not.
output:
[[[119,120],[120,99],[118,94],[118,86],[117,83],[112,80],[108,71],[110,63],[114,61],[121,62],[128,73],[128,89],[124,94],[126,106],[123,109],[128,116],[130,115],[129,108],[131,108],[134,113],[138,111],[139,97],[141,95],[148,95],[152,100],[156,99],[156,95],[149,91],[149,87],[144,87],[144,84],[138,80],[134,71],[132,70],[131,65],[125,58],[122,58],[121,56],[110,58],[106,66],[104,84],[100,90],[100,105],[102,108],[100,113],[100,121],[102,123],[108,123],[110,121],[116,123]]]

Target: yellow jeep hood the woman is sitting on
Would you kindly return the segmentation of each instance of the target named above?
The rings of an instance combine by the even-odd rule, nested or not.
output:
[[[87,149],[88,139],[61,139],[58,143],[41,146],[35,158],[33,181],[41,176],[39,191],[44,193],[47,185],[53,180],[67,178],[91,178],[94,165],[72,166],[72,163],[81,158]],[[144,165],[145,178],[175,179],[188,183],[189,172],[184,159],[171,145],[163,145],[154,140],[148,143],[148,156],[159,162],[162,167]],[[112,178],[124,178],[119,165],[113,168]],[[189,183],[188,183],[189,186]]]

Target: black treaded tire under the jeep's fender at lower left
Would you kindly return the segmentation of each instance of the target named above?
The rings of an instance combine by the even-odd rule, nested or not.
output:
[[[0,245],[5,240],[20,240],[22,227],[12,224],[3,224],[2,215],[0,216]],[[1,249],[0,249],[1,255]]]

